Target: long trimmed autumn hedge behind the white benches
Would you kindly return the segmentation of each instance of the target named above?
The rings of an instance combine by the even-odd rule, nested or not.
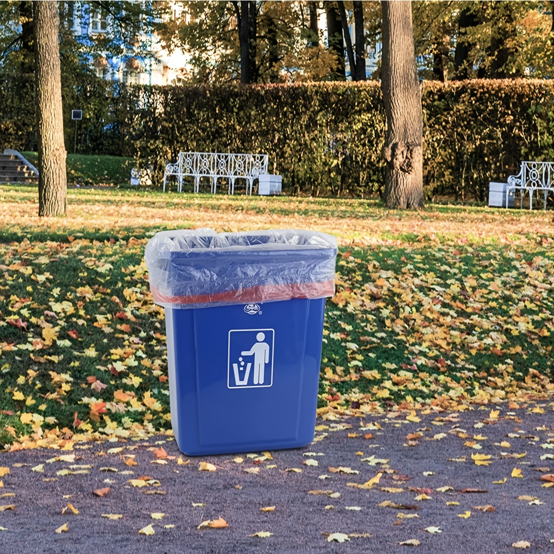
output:
[[[283,175],[289,193],[382,191],[385,124],[378,83],[130,88],[102,83],[97,89],[86,91],[97,117],[85,113],[82,134],[88,139],[80,152],[138,157],[155,168],[155,182],[179,151],[260,152],[269,154],[270,172]],[[10,100],[5,91],[0,88],[0,106]],[[516,173],[520,161],[554,160],[553,93],[548,80],[426,81],[427,197],[454,194],[482,201],[488,182]],[[27,135],[20,120],[13,132],[18,125],[10,114],[0,107],[0,143],[21,147],[20,137]],[[66,146],[73,150],[73,141]]]

